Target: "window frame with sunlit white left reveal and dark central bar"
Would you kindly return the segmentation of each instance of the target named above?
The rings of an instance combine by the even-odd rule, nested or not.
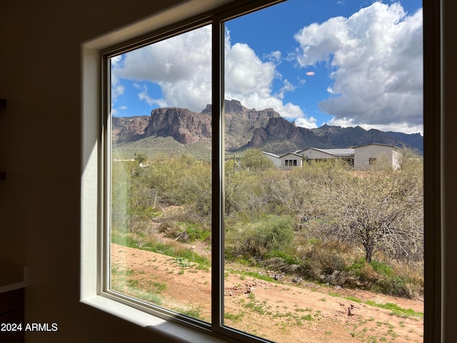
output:
[[[183,1],[182,5],[156,14],[124,29],[106,34],[81,46],[82,78],[82,168],[81,171],[81,292],[84,304],[114,314],[152,331],[189,342],[226,342],[240,339],[244,342],[269,342],[245,332],[222,325],[224,319],[224,30],[223,22],[277,4],[281,0],[231,1],[221,0],[218,4],[231,4],[211,9],[214,1]],[[208,11],[209,10],[209,11]],[[438,1],[423,0],[424,13],[424,207],[425,207],[425,318],[424,342],[438,342],[441,337],[441,260],[440,254],[440,4]],[[178,24],[174,24],[178,23]],[[106,114],[109,98],[109,69],[107,56],[116,51],[126,52],[154,41],[166,39],[179,32],[204,24],[213,26],[213,218],[212,242],[213,275],[211,284],[211,324],[197,319],[176,318],[167,310],[157,310],[138,299],[106,289],[108,273],[106,261],[106,212],[103,211],[108,194],[106,172],[109,168],[106,149],[106,132],[109,120]],[[105,61],[105,62],[104,62]],[[101,113],[104,113],[101,116]],[[219,114],[219,116],[216,116]],[[215,182],[216,180],[216,182]],[[219,180],[220,182],[217,182]],[[434,228],[434,229],[431,229]]]

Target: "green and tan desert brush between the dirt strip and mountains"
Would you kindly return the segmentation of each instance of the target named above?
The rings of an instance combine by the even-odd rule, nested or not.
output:
[[[356,172],[333,161],[284,172],[261,155],[251,150],[226,161],[227,263],[336,287],[422,296],[421,159],[404,156],[401,171],[378,165]],[[205,264],[209,256],[171,246],[211,249],[210,162],[181,155],[155,156],[146,164],[143,154],[137,157],[111,166],[113,242]],[[172,207],[176,211],[164,215]],[[157,235],[168,237],[169,247]]]

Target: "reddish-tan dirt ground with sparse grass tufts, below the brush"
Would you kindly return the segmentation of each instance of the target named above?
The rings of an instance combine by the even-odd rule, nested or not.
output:
[[[193,248],[200,254],[209,254],[203,247]],[[117,244],[111,245],[111,267],[111,288],[210,320],[210,269]],[[423,342],[422,318],[399,317],[389,309],[363,304],[393,303],[423,312],[421,300],[320,286],[282,275],[276,276],[278,282],[267,282],[242,274],[253,271],[236,264],[226,265],[224,324],[229,327],[276,342]]]

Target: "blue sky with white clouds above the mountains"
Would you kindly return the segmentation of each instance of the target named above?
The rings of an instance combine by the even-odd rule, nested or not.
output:
[[[226,99],[298,126],[423,131],[421,1],[289,0],[226,22]],[[211,27],[111,59],[111,113],[211,102]]]

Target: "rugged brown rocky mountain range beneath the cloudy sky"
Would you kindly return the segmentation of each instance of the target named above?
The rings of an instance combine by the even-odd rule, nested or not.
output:
[[[111,139],[114,146],[151,148],[172,139],[179,146],[211,147],[211,104],[199,112],[175,107],[154,109],[151,116],[114,117]],[[390,144],[421,153],[421,134],[365,130],[360,126],[323,125],[306,129],[283,119],[274,109],[247,109],[240,101],[225,101],[225,144],[227,151],[258,148],[283,154],[315,147],[347,148],[371,143]],[[176,146],[174,144],[174,146]],[[161,149],[164,149],[163,147]]]

